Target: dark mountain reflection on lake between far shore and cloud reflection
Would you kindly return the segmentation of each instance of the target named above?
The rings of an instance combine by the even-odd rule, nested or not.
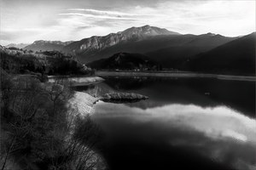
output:
[[[227,105],[248,116],[255,116],[255,82],[224,81],[207,78],[104,77],[102,84],[114,91],[147,95],[148,100],[132,104],[140,108],[168,105]],[[128,105],[128,104],[127,104]]]

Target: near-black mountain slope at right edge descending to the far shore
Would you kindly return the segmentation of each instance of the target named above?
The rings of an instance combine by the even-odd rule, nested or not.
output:
[[[225,43],[187,62],[191,71],[255,75],[255,38],[253,32]]]

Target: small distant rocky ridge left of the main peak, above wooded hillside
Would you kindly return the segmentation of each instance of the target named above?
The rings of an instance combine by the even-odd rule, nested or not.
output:
[[[44,41],[38,40],[33,42],[32,44],[26,46],[24,49],[32,50],[32,51],[52,51],[57,50],[60,51],[66,45],[72,43],[70,42],[61,42],[61,41]]]

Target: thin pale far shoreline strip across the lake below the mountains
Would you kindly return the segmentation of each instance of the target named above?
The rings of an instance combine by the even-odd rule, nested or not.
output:
[[[201,77],[216,78],[220,80],[236,80],[256,82],[253,76],[217,75],[193,72],[130,72],[130,71],[96,71],[96,77]]]

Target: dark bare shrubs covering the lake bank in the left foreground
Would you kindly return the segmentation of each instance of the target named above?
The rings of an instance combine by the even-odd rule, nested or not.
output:
[[[5,81],[12,82],[8,78]],[[99,127],[90,116],[82,117],[78,110],[67,106],[73,91],[67,83],[59,83],[45,86],[29,79],[2,86],[2,170],[12,159],[20,169],[104,167],[95,151],[101,136]]]

